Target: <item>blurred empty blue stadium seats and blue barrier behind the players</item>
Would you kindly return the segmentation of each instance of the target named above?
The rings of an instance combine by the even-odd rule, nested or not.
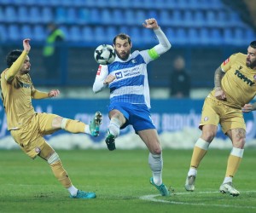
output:
[[[9,50],[22,49],[22,39],[30,37],[36,86],[90,88],[98,67],[93,56],[96,47],[112,44],[116,34],[125,32],[131,36],[133,50],[150,49],[157,41],[142,24],[155,18],[172,49],[149,64],[151,89],[170,88],[178,55],[185,60],[191,90],[211,89],[220,63],[233,53],[247,53],[248,44],[255,40],[255,11],[253,0],[1,0],[0,69],[6,67]],[[55,58],[59,70],[45,66],[49,23],[65,35],[63,41],[52,44],[60,52]]]

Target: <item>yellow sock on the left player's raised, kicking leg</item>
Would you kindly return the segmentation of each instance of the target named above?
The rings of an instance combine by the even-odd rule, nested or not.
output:
[[[84,133],[85,124],[79,120],[73,120],[63,118],[61,123],[61,129],[71,133]]]

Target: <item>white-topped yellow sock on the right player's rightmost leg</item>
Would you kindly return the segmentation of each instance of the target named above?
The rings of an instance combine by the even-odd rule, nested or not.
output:
[[[241,163],[241,158],[243,155],[243,149],[233,147],[230,153],[230,157],[228,159],[228,165],[226,170],[226,177],[233,177],[238,170],[238,167]]]

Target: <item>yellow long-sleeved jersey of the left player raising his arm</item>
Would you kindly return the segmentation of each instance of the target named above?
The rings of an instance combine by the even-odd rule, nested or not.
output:
[[[46,93],[41,93],[33,87],[29,74],[20,74],[20,67],[26,59],[26,51],[23,51],[18,60],[10,68],[1,73],[1,95],[3,107],[6,112],[8,130],[17,130],[22,125],[28,123],[35,113],[32,107],[32,98],[37,94],[39,97],[47,97]],[[6,80],[8,72],[14,75],[11,81]]]

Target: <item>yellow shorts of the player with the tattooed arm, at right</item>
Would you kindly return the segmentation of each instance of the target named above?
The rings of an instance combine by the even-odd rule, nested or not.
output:
[[[224,105],[221,101],[206,98],[201,112],[201,122],[199,128],[203,125],[212,124],[221,125],[221,129],[226,134],[229,130],[246,130],[246,124],[241,109],[236,109]]]

